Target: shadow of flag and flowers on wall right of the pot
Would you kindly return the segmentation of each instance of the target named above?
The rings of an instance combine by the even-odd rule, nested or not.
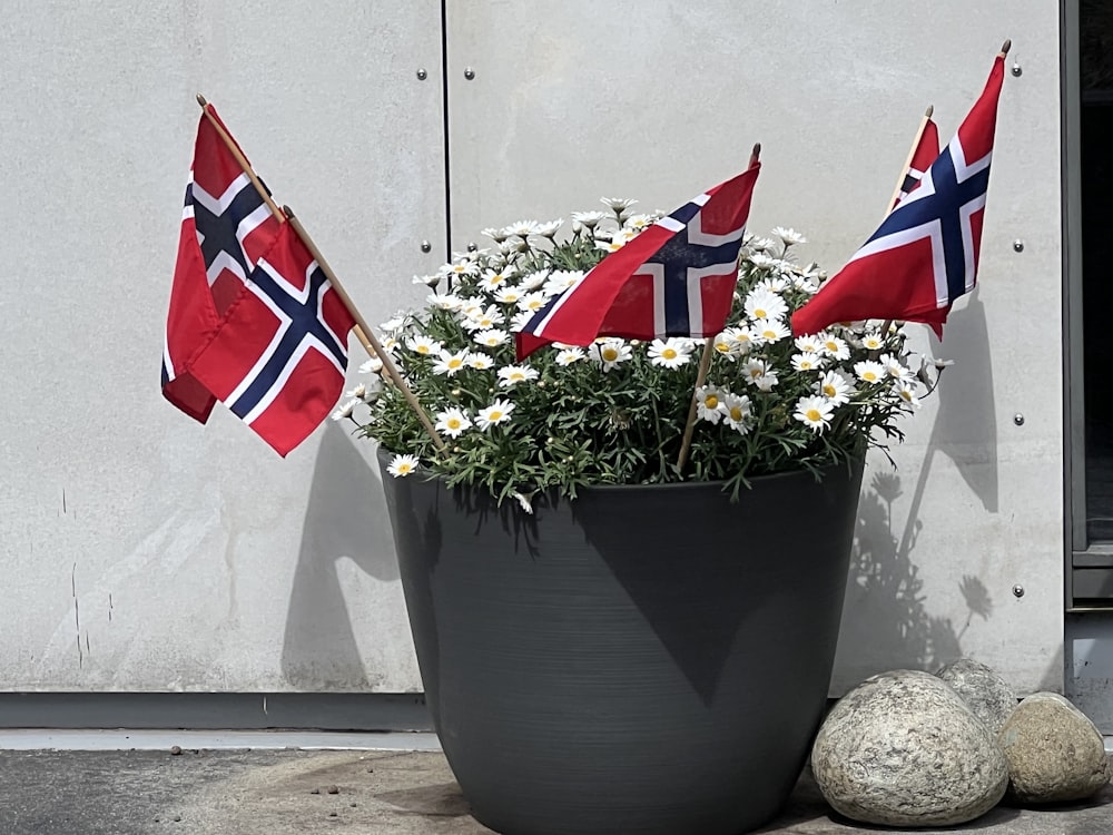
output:
[[[962,311],[952,313],[946,343],[937,356],[956,363],[943,375],[935,424],[920,464],[903,530],[894,530],[893,508],[904,494],[899,475],[878,472],[858,504],[858,527],[843,610],[838,680],[848,689],[890,669],[935,671],[963,656],[962,639],[974,618],[988,620],[993,599],[985,583],[967,574],[958,592],[967,609],[956,631],[949,618],[933,617],[919,569],[912,556],[923,529],[923,502],[936,453],[947,455],[982,507],[997,512],[997,430],[993,367],[985,308],[977,288]],[[915,420],[915,419],[914,419]]]

